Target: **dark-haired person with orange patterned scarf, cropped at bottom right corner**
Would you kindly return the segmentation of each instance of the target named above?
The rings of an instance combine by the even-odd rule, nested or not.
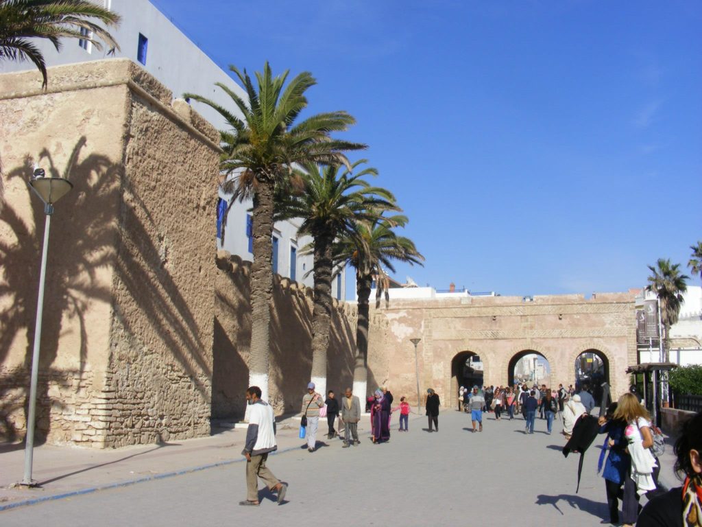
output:
[[[675,471],[685,481],[649,500],[637,526],[702,526],[702,412],[684,422],[674,452]]]

